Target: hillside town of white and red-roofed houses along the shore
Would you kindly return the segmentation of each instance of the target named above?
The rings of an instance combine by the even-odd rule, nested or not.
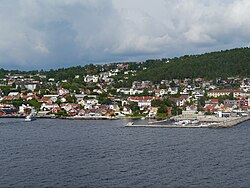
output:
[[[0,116],[26,116],[34,110],[38,117],[72,119],[230,117],[246,116],[250,109],[250,78],[135,80],[128,85],[123,83],[137,68],[127,63],[91,66],[96,69],[70,81],[43,72],[7,73],[0,80]]]

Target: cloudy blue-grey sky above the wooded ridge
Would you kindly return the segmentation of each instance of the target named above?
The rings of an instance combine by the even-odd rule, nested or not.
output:
[[[56,69],[248,47],[249,0],[1,0],[0,68]]]

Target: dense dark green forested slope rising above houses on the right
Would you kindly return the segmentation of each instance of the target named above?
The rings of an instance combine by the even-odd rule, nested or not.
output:
[[[250,77],[250,48],[237,48],[173,59],[148,60],[148,69],[136,79],[160,81],[171,78]]]

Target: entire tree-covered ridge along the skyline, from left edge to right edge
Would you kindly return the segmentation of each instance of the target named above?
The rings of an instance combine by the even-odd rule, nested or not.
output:
[[[129,76],[126,81],[128,84],[135,80],[159,82],[161,80],[174,78],[202,77],[213,79],[232,76],[250,77],[250,48],[237,48],[201,55],[185,55],[178,58],[165,58],[147,60],[144,63],[130,62],[124,64],[127,64],[125,70],[137,71],[136,76],[126,75],[126,77]],[[79,75],[80,78],[86,75],[97,75],[101,72],[116,69],[120,65],[121,63],[104,65],[89,64],[85,66],[60,68],[57,70],[34,70],[28,72],[0,69],[0,78],[4,78],[8,73],[24,75],[44,74],[47,78],[55,78],[56,81],[73,81],[76,75]],[[123,77],[123,74],[118,74],[115,76],[115,80],[121,80]]]

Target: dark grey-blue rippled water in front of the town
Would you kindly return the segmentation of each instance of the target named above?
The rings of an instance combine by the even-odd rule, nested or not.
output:
[[[0,119],[0,187],[248,187],[250,122],[230,129]]]

